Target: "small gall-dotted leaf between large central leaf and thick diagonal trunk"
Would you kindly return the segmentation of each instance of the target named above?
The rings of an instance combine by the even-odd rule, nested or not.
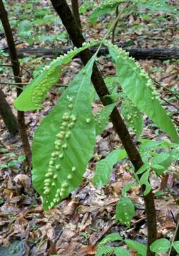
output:
[[[103,132],[106,125],[110,119],[110,113],[114,109],[116,103],[112,103],[108,106],[103,107],[102,110],[98,111],[97,114],[94,114],[95,123],[96,123],[96,136]]]

